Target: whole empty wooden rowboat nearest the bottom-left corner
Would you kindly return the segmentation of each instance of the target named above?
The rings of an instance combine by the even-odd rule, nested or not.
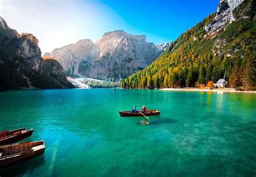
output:
[[[44,153],[44,141],[0,146],[0,168],[18,164]]]

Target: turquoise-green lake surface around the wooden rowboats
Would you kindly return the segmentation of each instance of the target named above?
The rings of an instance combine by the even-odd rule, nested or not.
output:
[[[119,117],[158,109],[160,116]],[[0,93],[0,130],[45,153],[0,176],[255,176],[256,94],[57,89]]]

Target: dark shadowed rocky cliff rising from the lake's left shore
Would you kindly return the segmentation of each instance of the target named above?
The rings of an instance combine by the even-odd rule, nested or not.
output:
[[[0,90],[73,88],[57,61],[44,61],[41,58],[36,37],[18,34],[10,29],[2,17],[0,41]]]

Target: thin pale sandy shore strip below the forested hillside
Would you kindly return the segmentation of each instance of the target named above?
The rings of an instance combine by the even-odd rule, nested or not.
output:
[[[212,91],[216,93],[224,93],[224,92],[230,92],[230,93],[248,93],[248,94],[255,94],[256,91],[238,91],[231,88],[218,88],[218,89],[196,89],[196,88],[163,88],[159,90],[169,90],[169,91]]]

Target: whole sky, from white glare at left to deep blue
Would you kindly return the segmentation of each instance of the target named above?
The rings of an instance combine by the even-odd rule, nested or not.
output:
[[[39,40],[43,54],[105,32],[145,34],[154,44],[175,40],[217,10],[219,0],[0,0],[0,16]]]

